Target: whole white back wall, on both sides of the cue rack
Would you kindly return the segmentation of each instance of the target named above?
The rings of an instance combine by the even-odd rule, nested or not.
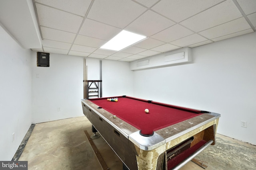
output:
[[[100,59],[86,57],[88,80],[100,79]],[[50,67],[36,66],[32,55],[32,121],[41,123],[83,116],[84,57],[50,53]],[[102,96],[131,94],[129,63],[102,60]],[[58,111],[60,107],[60,111]]]

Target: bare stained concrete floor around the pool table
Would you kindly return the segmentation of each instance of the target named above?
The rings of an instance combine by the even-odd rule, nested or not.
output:
[[[28,161],[28,170],[102,170],[84,133],[91,123],[85,116],[36,124],[19,160]],[[94,139],[110,170],[122,170],[122,162],[102,137]],[[211,145],[195,157],[206,170],[255,170],[256,146],[217,134]],[[203,170],[188,162],[180,170]]]

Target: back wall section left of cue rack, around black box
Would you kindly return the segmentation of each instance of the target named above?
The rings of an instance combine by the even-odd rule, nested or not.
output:
[[[33,51],[31,61],[33,123],[81,116],[83,58],[50,53],[50,67],[38,67]]]

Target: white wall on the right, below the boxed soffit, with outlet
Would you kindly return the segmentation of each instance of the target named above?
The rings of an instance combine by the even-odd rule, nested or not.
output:
[[[134,71],[135,97],[220,113],[217,133],[255,145],[256,32],[195,47],[192,57]]]

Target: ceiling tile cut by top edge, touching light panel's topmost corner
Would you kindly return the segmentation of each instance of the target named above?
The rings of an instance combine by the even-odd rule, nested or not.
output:
[[[146,10],[131,0],[97,0],[87,18],[123,29]]]

